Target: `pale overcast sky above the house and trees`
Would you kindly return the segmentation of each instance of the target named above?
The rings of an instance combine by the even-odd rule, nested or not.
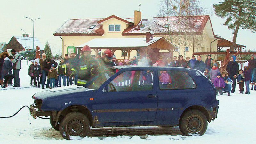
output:
[[[232,31],[223,26],[225,20],[218,18],[212,9],[212,4],[221,0],[201,0],[203,7],[208,8],[214,33],[232,41]],[[33,36],[32,19],[41,18],[34,22],[34,35],[41,43],[50,43],[52,52],[62,48],[59,36],[53,33],[70,18],[106,18],[117,15],[128,18],[134,17],[133,10],[139,10],[141,4],[142,18],[157,16],[160,0],[1,0],[0,12],[0,42],[8,43],[12,36],[22,36],[24,29]],[[237,43],[256,48],[256,34],[249,30],[240,29]]]

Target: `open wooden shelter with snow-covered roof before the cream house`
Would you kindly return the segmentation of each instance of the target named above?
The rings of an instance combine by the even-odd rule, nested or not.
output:
[[[169,56],[173,57],[173,52],[177,49],[164,37],[153,37],[148,42],[146,38],[95,38],[77,46],[77,51],[79,52],[85,45],[90,46],[96,53],[105,49],[110,49],[113,53],[116,50],[121,50],[127,52],[128,59],[130,59],[132,50],[136,50],[140,57],[149,55],[153,62],[160,56],[159,50],[168,50],[170,52]],[[124,59],[126,59],[125,55]]]

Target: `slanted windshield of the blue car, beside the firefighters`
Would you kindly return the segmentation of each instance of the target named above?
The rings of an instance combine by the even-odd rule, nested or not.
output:
[[[87,82],[84,87],[91,89],[98,89],[104,82],[106,82],[111,76],[116,73],[116,69],[108,68],[101,72],[97,76],[93,77],[92,80]]]

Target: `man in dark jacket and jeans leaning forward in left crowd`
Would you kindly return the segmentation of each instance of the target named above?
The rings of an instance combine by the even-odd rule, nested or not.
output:
[[[41,64],[41,66],[42,66],[42,89],[44,89],[44,83],[46,81],[46,76],[48,75],[48,72],[52,71],[51,70],[52,64],[54,64],[55,68],[58,66],[57,62],[55,62],[54,60],[52,60],[50,58],[45,59]],[[50,80],[47,79],[46,88],[50,88],[49,84],[50,84]]]

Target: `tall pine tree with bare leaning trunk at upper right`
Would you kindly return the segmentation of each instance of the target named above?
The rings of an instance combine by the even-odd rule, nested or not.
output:
[[[230,51],[234,51],[238,30],[249,29],[256,32],[256,0],[224,0],[213,4],[215,14],[225,18],[225,26],[233,30],[233,41]]]

